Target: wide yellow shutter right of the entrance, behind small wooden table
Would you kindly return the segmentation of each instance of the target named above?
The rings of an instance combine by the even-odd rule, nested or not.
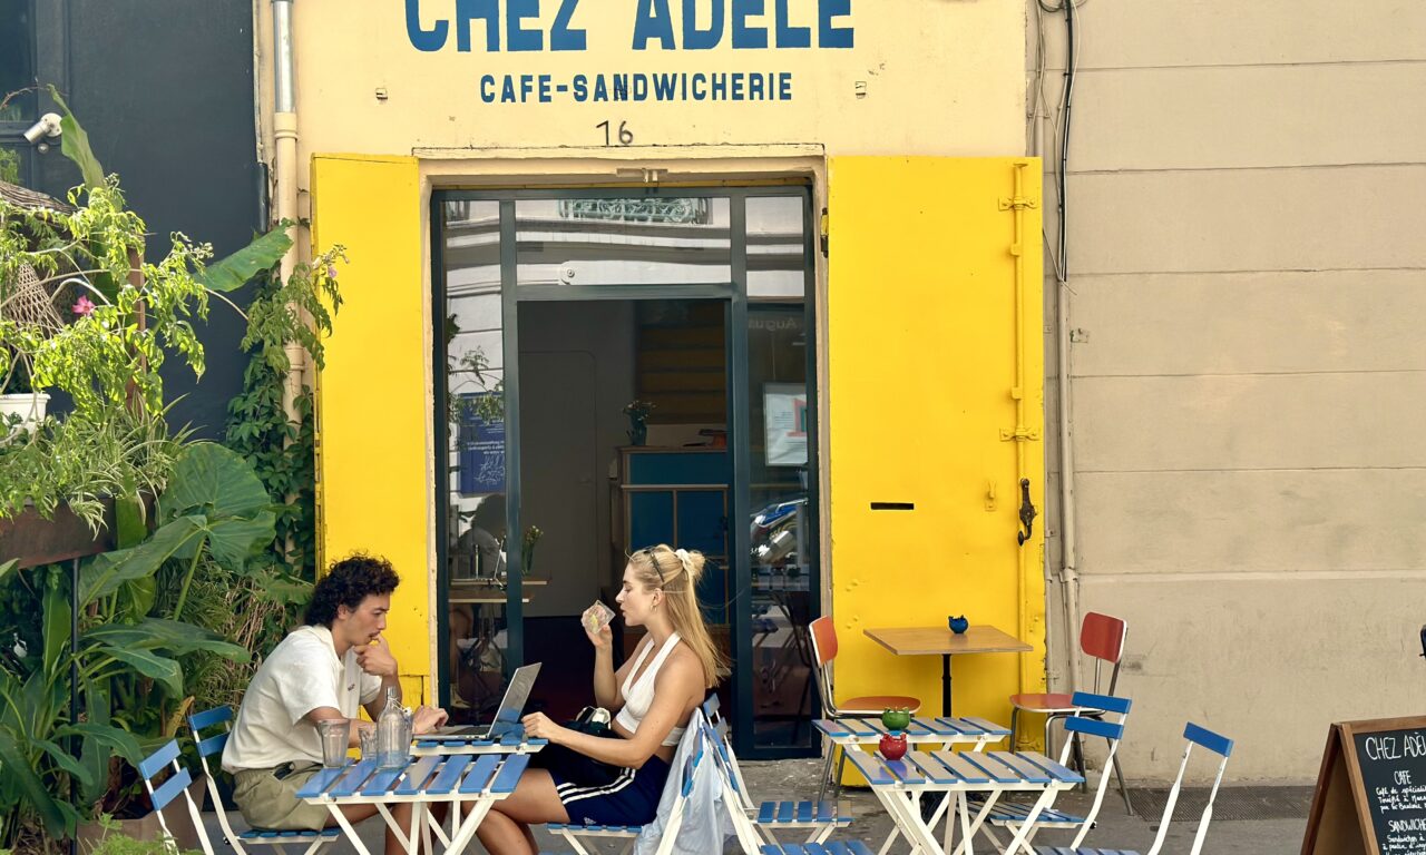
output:
[[[965,614],[1035,647],[953,663],[955,714],[1008,724],[1007,697],[1044,688],[1044,517],[1015,537],[1020,480],[1045,496],[1040,162],[833,158],[829,191],[837,694],[940,715],[940,657],[863,630]]]

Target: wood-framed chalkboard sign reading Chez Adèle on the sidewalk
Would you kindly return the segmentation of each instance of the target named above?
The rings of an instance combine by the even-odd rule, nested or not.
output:
[[[1426,717],[1332,725],[1302,852],[1426,854]]]

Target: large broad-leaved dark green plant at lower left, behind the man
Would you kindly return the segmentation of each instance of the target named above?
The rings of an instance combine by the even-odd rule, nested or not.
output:
[[[93,818],[93,805],[133,778],[120,761],[135,764],[181,720],[184,656],[250,660],[242,647],[185,623],[183,608],[200,560],[247,569],[274,537],[271,500],[252,467],[222,446],[187,446],[157,517],[147,540],[96,556],[81,570],[76,653],[71,591],[63,573],[51,573],[39,661],[24,671],[0,658],[0,845],[31,821],[51,838],[71,836]],[[184,569],[181,590],[155,614],[155,579],[168,561]],[[13,561],[0,567],[0,580],[11,571]],[[84,698],[78,720],[68,710],[71,663]]]

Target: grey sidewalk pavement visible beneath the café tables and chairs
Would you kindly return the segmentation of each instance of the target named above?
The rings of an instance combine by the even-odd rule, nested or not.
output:
[[[753,794],[754,799],[779,798],[803,801],[817,798],[817,775],[821,771],[820,760],[780,760],[771,762],[740,761],[739,765],[743,768],[743,775],[747,779],[747,788]],[[1246,792],[1239,792],[1246,795]],[[1219,791],[1218,805],[1222,805],[1225,799],[1232,797],[1233,794],[1229,792],[1228,788]],[[1057,799],[1055,807],[1071,812],[1084,812],[1089,808],[1091,801],[1092,794],[1068,792]],[[877,798],[871,795],[871,791],[868,789],[843,789],[841,802],[843,811],[850,811],[854,821],[844,832],[834,835],[833,839],[856,838],[867,842],[873,852],[878,851],[881,848],[881,842],[891,831],[891,818],[881,809],[881,804]],[[1251,821],[1224,819],[1221,817],[1222,812],[1208,828],[1208,838],[1204,844],[1205,855],[1293,855],[1302,851],[1302,832],[1306,826],[1305,814],[1291,819]],[[232,814],[232,818],[235,822],[241,822],[241,817],[238,817],[237,812]],[[232,852],[232,849],[222,842],[222,832],[218,828],[215,815],[204,814],[204,819],[208,828],[208,838],[212,841],[214,849],[220,855]],[[1124,809],[1124,801],[1119,798],[1118,791],[1111,782],[1109,791],[1105,794],[1104,807],[1099,811],[1098,826],[1089,832],[1089,836],[1085,839],[1085,845],[1148,852],[1149,845],[1154,842],[1154,835],[1158,831],[1158,819],[1159,817],[1156,811],[1155,815],[1149,818],[1129,817]],[[1192,846],[1196,825],[1196,811],[1189,819],[1184,819],[1182,811],[1178,812],[1174,824],[1169,825],[1169,834],[1164,844],[1162,855],[1186,855]],[[382,835],[385,825],[379,819],[369,819],[358,828],[362,842],[365,842],[371,854],[382,855]],[[238,831],[241,829],[242,828],[240,826]],[[1044,845],[1067,845],[1071,836],[1072,835],[1065,832],[1047,831],[1037,835],[1035,842]],[[552,836],[543,828],[538,828],[535,831],[535,839],[539,844],[540,852],[569,851],[569,846],[562,838]],[[606,854],[617,852],[619,846],[613,846],[612,844],[613,841],[607,841],[600,851]],[[260,852],[264,849],[260,849]],[[891,854],[901,855],[907,852],[907,849],[908,848],[903,841],[891,848]],[[338,855],[352,851],[354,848],[351,844],[342,841],[332,846],[322,848],[321,852],[322,855]],[[593,848],[590,848],[590,851],[593,851]],[[726,851],[732,852],[733,848]],[[985,845],[984,838],[977,838],[975,851],[990,852],[990,846]],[[295,855],[291,848],[288,852],[289,855]],[[483,849],[478,842],[472,841],[468,852],[479,854],[483,852]]]

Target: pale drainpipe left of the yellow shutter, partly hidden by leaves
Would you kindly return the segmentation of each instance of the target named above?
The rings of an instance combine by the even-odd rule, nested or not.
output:
[[[277,172],[277,219],[297,222],[297,83],[292,68],[292,0],[272,0],[272,140]],[[297,227],[294,227],[295,231]],[[298,242],[282,256],[282,281],[297,266]],[[288,343],[282,410],[297,420],[297,396],[307,380],[307,352]]]

